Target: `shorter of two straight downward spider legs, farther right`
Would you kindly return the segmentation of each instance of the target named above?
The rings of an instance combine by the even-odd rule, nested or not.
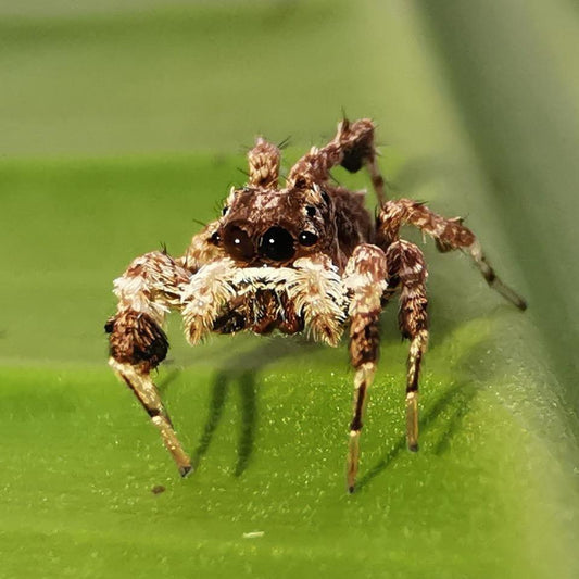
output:
[[[428,276],[423,252],[408,241],[394,241],[386,252],[388,291],[400,291],[399,327],[411,340],[406,369],[406,443],[418,450],[418,378],[428,345]]]

